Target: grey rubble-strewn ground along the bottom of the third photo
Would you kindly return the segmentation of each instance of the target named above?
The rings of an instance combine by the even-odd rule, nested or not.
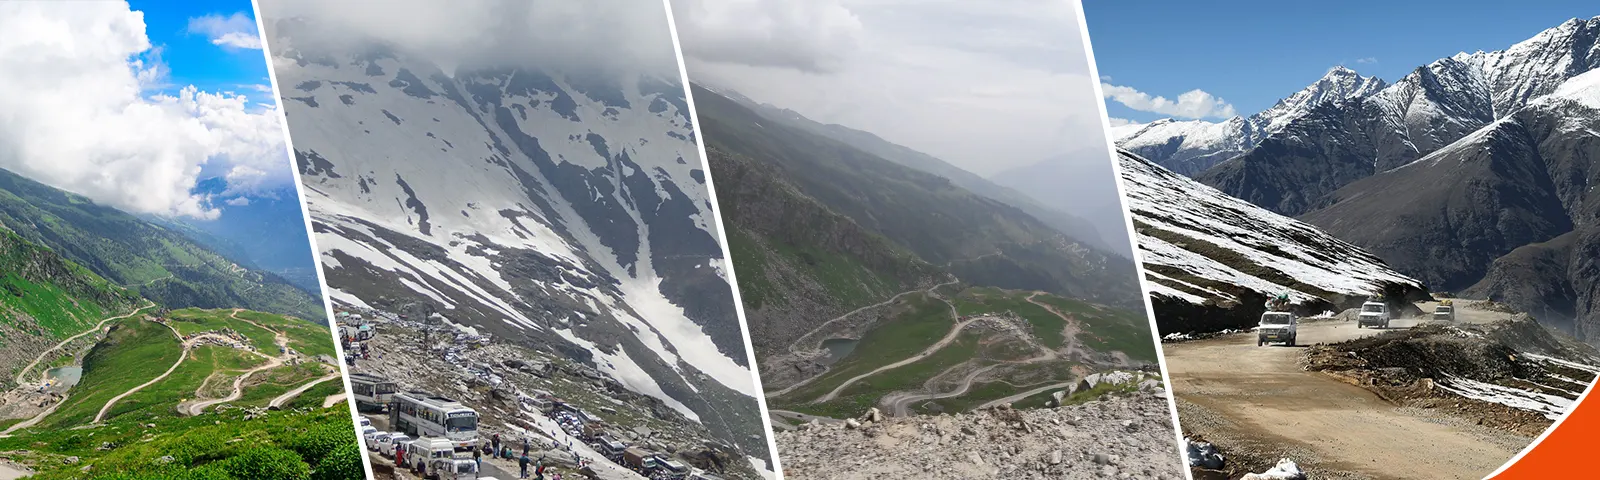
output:
[[[1184,478],[1163,390],[778,434],[787,478]]]

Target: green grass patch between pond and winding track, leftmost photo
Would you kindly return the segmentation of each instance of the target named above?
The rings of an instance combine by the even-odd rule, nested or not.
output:
[[[32,430],[66,429],[94,419],[106,402],[166,373],[182,344],[166,326],[139,317],[117,320],[110,334],[83,357],[83,378],[67,402]]]

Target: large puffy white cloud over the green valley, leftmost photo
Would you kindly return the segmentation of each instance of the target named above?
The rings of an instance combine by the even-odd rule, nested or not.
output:
[[[294,181],[275,106],[194,86],[150,94],[165,66],[122,2],[0,2],[0,168],[133,213],[210,219],[230,192]],[[237,184],[234,182],[237,181]]]

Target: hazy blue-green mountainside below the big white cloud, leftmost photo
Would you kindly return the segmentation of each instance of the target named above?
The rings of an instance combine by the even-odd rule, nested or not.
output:
[[[179,232],[0,170],[0,224],[170,307],[245,307],[323,318],[322,301]],[[286,238],[294,242],[304,238]]]

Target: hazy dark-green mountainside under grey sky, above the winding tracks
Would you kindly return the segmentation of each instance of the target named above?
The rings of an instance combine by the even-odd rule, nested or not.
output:
[[[758,358],[947,274],[1141,310],[1130,259],[1032,216],[1021,192],[738,93],[693,96]]]

